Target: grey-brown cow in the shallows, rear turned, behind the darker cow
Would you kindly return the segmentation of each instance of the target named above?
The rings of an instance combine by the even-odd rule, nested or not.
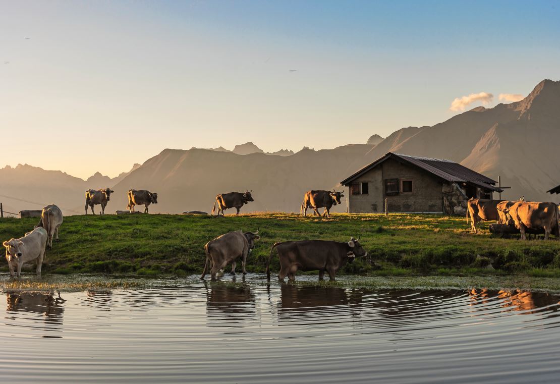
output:
[[[256,232],[229,232],[220,237],[214,238],[206,243],[204,251],[206,252],[206,262],[204,263],[204,270],[200,279],[204,279],[208,270],[208,263],[211,264],[210,274],[212,280],[216,280],[216,274],[222,268],[231,263],[231,275],[235,275],[236,259],[241,257],[241,268],[243,274],[246,274],[245,263],[247,256],[255,247],[255,241],[259,240],[260,236]]]

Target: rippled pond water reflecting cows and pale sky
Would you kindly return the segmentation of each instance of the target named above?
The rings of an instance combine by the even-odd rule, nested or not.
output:
[[[3,292],[0,381],[560,381],[559,296],[254,279]]]

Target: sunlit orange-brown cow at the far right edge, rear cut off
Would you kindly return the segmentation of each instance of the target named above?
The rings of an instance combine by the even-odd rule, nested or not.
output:
[[[560,237],[558,220],[560,211],[554,203],[516,202],[502,212],[511,218],[507,224],[513,224],[521,232],[521,240],[526,240],[526,228],[544,230],[544,240],[548,240],[550,233]]]

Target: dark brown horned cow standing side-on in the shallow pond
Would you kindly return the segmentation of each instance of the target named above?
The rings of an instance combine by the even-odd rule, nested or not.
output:
[[[358,242],[360,238],[350,238],[348,242],[328,240],[300,240],[275,243],[270,249],[267,263],[267,279],[270,280],[270,260],[274,249],[278,251],[280,259],[280,273],[278,280],[283,281],[287,276],[296,279],[296,271],[319,270],[319,280],[323,280],[325,271],[330,281],[334,282],[337,271],[346,263],[352,263],[356,256],[366,256],[367,252]]]

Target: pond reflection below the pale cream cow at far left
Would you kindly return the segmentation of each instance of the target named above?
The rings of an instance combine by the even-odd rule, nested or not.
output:
[[[64,313],[60,292],[7,291],[7,312],[41,313],[45,324],[62,324]],[[15,318],[15,316],[13,317]]]

